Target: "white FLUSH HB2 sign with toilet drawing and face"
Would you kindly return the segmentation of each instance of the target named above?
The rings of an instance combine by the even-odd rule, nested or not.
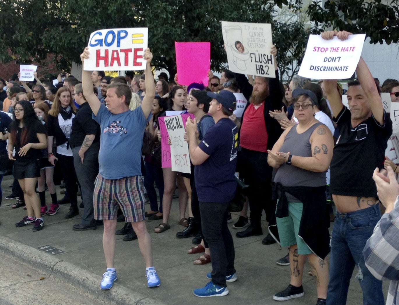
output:
[[[271,24],[222,21],[222,34],[229,70],[275,77]]]

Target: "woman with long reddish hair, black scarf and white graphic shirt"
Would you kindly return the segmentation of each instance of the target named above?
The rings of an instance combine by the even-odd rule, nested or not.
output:
[[[75,113],[76,107],[71,91],[67,87],[59,88],[47,118],[47,155],[52,165],[55,165],[55,162],[59,161],[64,175],[65,187],[71,200],[71,207],[65,218],[72,218],[79,214],[76,198],[77,177],[73,165],[72,149],[69,147],[69,137],[71,136],[72,120],[75,118]],[[53,153],[54,138],[57,142],[57,157]],[[51,213],[49,210],[49,215],[54,215],[58,209],[58,204],[51,205]]]

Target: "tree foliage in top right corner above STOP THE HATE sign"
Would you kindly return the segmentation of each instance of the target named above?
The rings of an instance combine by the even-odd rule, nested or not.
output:
[[[370,43],[397,43],[399,40],[398,0],[363,2],[363,0],[313,1],[307,14],[316,25],[314,32],[325,28],[346,30],[354,34],[365,33]]]

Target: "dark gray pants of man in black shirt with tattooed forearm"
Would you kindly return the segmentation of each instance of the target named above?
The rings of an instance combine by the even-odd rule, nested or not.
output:
[[[94,219],[93,209],[93,193],[94,193],[94,181],[99,173],[99,150],[100,143],[93,143],[89,149],[85,152],[83,163],[79,157],[80,146],[72,148],[73,153],[73,164],[77,179],[82,192],[83,199],[83,217],[82,225],[88,227],[94,227],[96,221]]]

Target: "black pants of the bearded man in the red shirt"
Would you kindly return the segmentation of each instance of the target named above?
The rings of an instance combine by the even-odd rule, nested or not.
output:
[[[240,177],[244,178],[245,184],[249,184],[246,193],[251,209],[251,225],[261,229],[262,210],[265,210],[269,225],[275,225],[277,201],[272,200],[273,168],[267,163],[267,153],[242,148],[238,160]]]

